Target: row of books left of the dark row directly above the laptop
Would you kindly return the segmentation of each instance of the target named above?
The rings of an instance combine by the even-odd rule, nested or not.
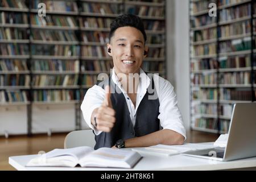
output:
[[[193,90],[193,100],[217,100],[217,89],[198,89]]]

